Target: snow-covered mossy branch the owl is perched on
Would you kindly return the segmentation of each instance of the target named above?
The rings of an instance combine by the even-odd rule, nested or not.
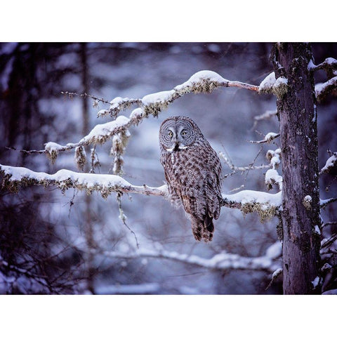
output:
[[[167,185],[150,187],[128,183],[124,178],[112,174],[79,173],[62,169],[54,174],[34,172],[23,167],[0,165],[0,173],[4,176],[2,187],[17,192],[20,186],[55,185],[62,192],[69,188],[99,192],[107,198],[112,192],[138,193],[166,197]],[[223,194],[222,206],[239,209],[244,214],[256,211],[261,220],[275,216],[282,204],[281,192],[271,194],[258,191],[241,191],[235,194]]]

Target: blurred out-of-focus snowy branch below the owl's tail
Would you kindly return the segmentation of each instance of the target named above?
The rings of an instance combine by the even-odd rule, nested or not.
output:
[[[109,258],[122,258],[126,260],[135,258],[165,258],[212,270],[263,270],[274,272],[280,266],[278,258],[282,253],[282,245],[281,242],[275,242],[275,244],[272,244],[272,246],[267,249],[264,256],[255,258],[222,252],[207,259],[195,255],[178,253],[176,251],[166,251],[164,249],[149,250],[142,248],[127,253],[118,251],[94,251],[94,253],[100,253]]]

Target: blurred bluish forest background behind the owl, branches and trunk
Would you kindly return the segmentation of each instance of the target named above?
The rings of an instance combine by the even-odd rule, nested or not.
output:
[[[199,70],[258,85],[272,72],[271,47],[268,43],[0,44],[0,163],[47,173],[77,171],[73,152],[60,154],[51,164],[44,155],[6,148],[42,150],[49,141],[76,143],[95,124],[111,120],[97,118],[97,112],[109,105],[70,98],[61,91],[90,93],[108,101],[117,96],[142,98],[171,90]],[[315,43],[312,50],[315,64],[337,57],[337,44]],[[317,83],[325,80],[323,71],[315,76]],[[337,151],[336,108],[333,96],[317,107],[319,168],[329,157],[327,149]],[[158,131],[161,122],[173,115],[194,119],[213,148],[227,152],[235,165],[268,164],[265,153],[279,147],[277,139],[262,149],[249,140],[278,132],[275,115],[254,119],[275,110],[275,96],[237,88],[185,95],[158,118],[150,116],[131,129],[123,177],[134,185],[163,184]],[[96,173],[112,173],[110,147],[111,143],[96,149],[100,161]],[[90,149],[86,151],[90,156]],[[225,162],[222,164],[223,174],[230,173]],[[223,192],[266,191],[264,172],[228,176]],[[322,199],[336,197],[336,180],[331,183],[322,176],[320,183]],[[204,244],[195,242],[183,211],[173,209],[161,197],[124,194],[121,203],[129,228],[119,218],[113,195],[104,200],[95,193],[88,196],[68,190],[62,194],[52,187],[22,188],[18,194],[2,190],[0,293],[282,293],[281,279],[267,287],[271,278],[267,270],[216,270],[170,258],[126,258],[137,250],[133,232],[141,249],[164,249],[205,259],[223,251],[263,256],[278,240],[276,218],[260,223],[255,213],[244,217],[240,211],[223,208],[213,242]],[[324,220],[336,220],[336,214],[333,204],[322,211]],[[324,230],[337,232],[333,226]],[[120,256],[93,254],[91,248]]]

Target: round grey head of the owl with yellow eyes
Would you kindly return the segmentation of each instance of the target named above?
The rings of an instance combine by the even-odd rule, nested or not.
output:
[[[201,131],[188,117],[171,117],[160,126],[159,142],[166,151],[185,150],[192,145]]]

